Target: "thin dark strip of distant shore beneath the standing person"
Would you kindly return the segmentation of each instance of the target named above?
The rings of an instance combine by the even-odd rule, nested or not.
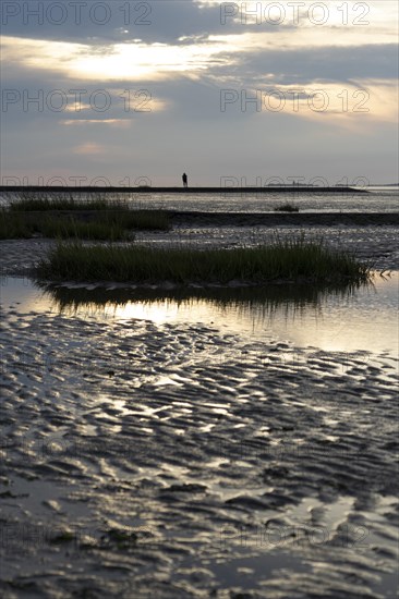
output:
[[[0,192],[44,192],[74,194],[368,194],[366,190],[355,187],[310,187],[310,186],[276,186],[276,187],[75,187],[75,186],[40,186],[40,185],[0,185]]]

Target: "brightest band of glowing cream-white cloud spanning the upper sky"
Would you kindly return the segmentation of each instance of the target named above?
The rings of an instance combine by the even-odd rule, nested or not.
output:
[[[383,25],[384,23],[382,23]],[[221,27],[222,29],[222,27]],[[262,50],[319,49],[394,44],[392,28],[368,27],[237,27],[237,33],[181,38],[184,44],[144,44],[141,40],[107,46],[3,37],[2,61],[29,69],[51,70],[88,81],[161,81],[195,75],[213,66],[232,66],[240,56]]]

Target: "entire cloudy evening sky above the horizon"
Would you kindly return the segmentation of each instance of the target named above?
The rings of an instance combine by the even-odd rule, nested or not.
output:
[[[1,2],[1,183],[396,183],[398,3]]]

